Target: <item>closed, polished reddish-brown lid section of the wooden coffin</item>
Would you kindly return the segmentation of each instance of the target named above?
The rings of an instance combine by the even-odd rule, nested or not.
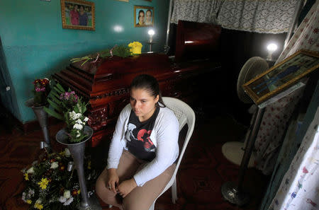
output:
[[[62,85],[72,86],[75,91],[90,99],[96,107],[101,99],[114,91],[125,91],[138,74],[159,76],[172,71],[166,54],[140,54],[133,57],[109,57],[97,62],[77,62],[54,75]],[[83,65],[82,65],[83,64]]]

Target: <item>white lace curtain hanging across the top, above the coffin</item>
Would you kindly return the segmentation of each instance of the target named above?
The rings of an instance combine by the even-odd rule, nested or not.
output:
[[[289,30],[301,0],[174,0],[171,23],[194,21],[257,33]]]

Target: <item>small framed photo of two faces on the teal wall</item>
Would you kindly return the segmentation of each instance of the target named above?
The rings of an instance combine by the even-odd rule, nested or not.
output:
[[[154,25],[154,8],[152,6],[134,6],[134,27]]]

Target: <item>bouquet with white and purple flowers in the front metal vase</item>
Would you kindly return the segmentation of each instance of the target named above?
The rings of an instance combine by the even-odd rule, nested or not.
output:
[[[86,137],[84,126],[89,121],[84,115],[87,103],[82,102],[74,91],[65,91],[59,83],[50,91],[47,101],[52,109],[44,107],[44,110],[65,121],[70,143],[81,142]]]

